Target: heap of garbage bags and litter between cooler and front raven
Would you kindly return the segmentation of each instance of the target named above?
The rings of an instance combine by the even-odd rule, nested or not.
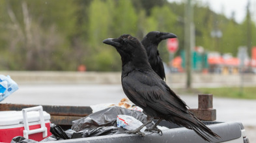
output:
[[[133,105],[132,102],[126,98],[122,99],[117,105],[99,104],[91,107],[93,113],[79,120],[74,120],[71,129],[64,131],[60,126],[51,124],[50,132],[52,135],[39,142],[121,134],[137,129],[137,127],[147,122],[147,115],[142,113],[139,107]],[[139,111],[137,111],[137,109],[139,109]],[[148,124],[147,127],[153,124],[152,122]],[[146,127],[143,127],[141,131],[145,129]],[[33,143],[38,141],[18,136],[12,138],[11,142]]]

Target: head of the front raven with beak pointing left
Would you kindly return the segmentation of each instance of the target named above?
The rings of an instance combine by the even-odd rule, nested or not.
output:
[[[117,49],[117,52],[121,55],[123,65],[129,61],[134,65],[137,65],[138,63],[148,64],[145,48],[137,38],[130,34],[123,34],[119,38],[107,38],[104,39],[103,43],[112,45]]]

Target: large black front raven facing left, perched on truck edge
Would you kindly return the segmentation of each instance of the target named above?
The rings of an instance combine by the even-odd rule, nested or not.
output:
[[[126,96],[141,107],[149,116],[149,122],[127,133],[141,133],[142,127],[146,126],[154,118],[159,120],[148,131],[158,131],[156,126],[165,119],[188,129],[193,129],[197,135],[205,140],[219,138],[198,120],[187,109],[187,105],[175,94],[150,67],[147,52],[141,42],[129,34],[119,38],[104,39],[103,43],[112,45],[121,55],[122,60],[122,89]]]

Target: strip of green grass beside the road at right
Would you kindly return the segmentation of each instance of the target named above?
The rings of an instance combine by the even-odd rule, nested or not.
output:
[[[256,99],[256,87],[220,87],[220,88],[199,88],[197,93],[214,94],[214,96],[225,98]],[[193,91],[192,91],[193,93]]]

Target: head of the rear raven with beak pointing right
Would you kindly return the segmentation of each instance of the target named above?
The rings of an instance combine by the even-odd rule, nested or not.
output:
[[[177,38],[177,36],[173,33],[152,31],[143,38],[143,41],[146,40],[145,42],[147,43],[158,45],[160,41],[168,38]]]

